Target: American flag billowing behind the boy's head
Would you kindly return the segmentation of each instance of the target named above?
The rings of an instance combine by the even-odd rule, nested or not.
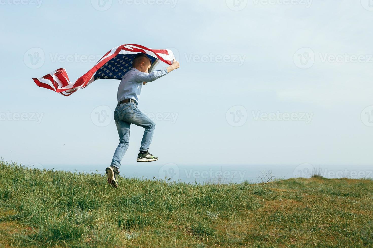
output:
[[[32,78],[32,80],[39,87],[54,90],[63,96],[70,96],[75,91],[87,87],[88,84],[98,79],[121,80],[124,74],[131,69],[132,59],[140,52],[147,54],[151,59],[152,64],[149,72],[155,70],[159,61],[171,65],[173,59],[175,59],[172,51],[168,49],[149,49],[141,45],[125,44],[107,52],[91,70],[75,82],[70,82],[65,68],[59,68],[44,77]]]

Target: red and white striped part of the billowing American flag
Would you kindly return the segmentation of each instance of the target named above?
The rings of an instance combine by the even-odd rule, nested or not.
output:
[[[141,45],[125,44],[117,46],[109,52],[107,52],[91,70],[89,70],[87,73],[79,77],[75,82],[70,82],[69,76],[65,68],[59,68],[56,71],[52,71],[51,73],[45,75],[44,77],[32,78],[32,80],[34,80],[34,82],[39,87],[54,90],[62,94],[63,96],[70,96],[75,91],[81,88],[85,88],[88,86],[88,84],[92,83],[94,81],[95,73],[104,64],[106,64],[107,61],[109,61],[112,58],[115,58],[116,55],[138,54],[140,52],[143,52],[156,58],[156,62],[153,63],[150,71],[153,71],[155,69],[155,66],[159,63],[159,61],[163,61],[164,63],[171,65],[173,59],[175,59],[175,56],[173,55],[172,51],[168,49],[150,49]]]

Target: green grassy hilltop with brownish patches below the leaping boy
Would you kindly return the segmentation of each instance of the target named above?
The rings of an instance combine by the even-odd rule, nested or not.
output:
[[[373,181],[196,185],[0,162],[0,247],[373,247]]]

